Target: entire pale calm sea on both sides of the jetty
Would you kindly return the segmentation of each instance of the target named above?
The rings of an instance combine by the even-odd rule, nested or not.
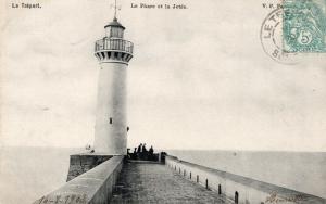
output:
[[[30,204],[66,181],[83,149],[0,148],[0,204]],[[180,160],[326,197],[326,152],[166,150]]]

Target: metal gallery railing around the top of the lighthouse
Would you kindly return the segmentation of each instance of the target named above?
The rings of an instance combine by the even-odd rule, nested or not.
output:
[[[101,50],[118,50],[133,54],[134,44],[124,39],[103,38],[96,41],[95,51]]]

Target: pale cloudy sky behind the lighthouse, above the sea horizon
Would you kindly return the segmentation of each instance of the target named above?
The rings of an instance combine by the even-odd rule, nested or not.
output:
[[[37,2],[41,9],[1,2],[0,144],[92,144],[99,74],[93,44],[113,18],[113,1]],[[325,55],[304,54],[294,65],[272,60],[260,40],[272,10],[261,1],[118,4],[125,39],[135,44],[128,146],[326,151]]]

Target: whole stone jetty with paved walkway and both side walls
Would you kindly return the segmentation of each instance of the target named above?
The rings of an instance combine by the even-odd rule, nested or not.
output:
[[[128,194],[127,199],[133,201],[162,201],[163,203],[170,200],[187,201],[190,196],[189,189],[192,189],[191,192],[195,193],[192,201],[201,194],[214,203],[215,201],[235,204],[326,203],[325,199],[315,195],[197,165],[175,156],[164,156],[165,160],[162,161],[165,161],[165,166],[162,165],[164,162],[102,156],[72,155],[68,176],[76,177],[34,204],[109,204],[113,196],[115,196],[113,201],[123,201],[124,194]],[[89,170],[83,174],[80,169]],[[124,169],[123,173],[121,173],[122,169]],[[121,180],[120,183],[116,183],[117,178]],[[152,183],[153,180],[156,181]],[[141,184],[145,186],[141,187]],[[201,188],[195,186],[201,186]],[[193,189],[197,190],[193,191]],[[152,194],[148,197],[149,193]]]

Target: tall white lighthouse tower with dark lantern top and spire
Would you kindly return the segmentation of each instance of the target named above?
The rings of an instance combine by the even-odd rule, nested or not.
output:
[[[117,22],[116,4],[114,18],[104,28],[105,36],[95,44],[100,72],[93,148],[96,153],[124,155],[128,131],[126,79],[134,44],[124,40],[125,27]]]

